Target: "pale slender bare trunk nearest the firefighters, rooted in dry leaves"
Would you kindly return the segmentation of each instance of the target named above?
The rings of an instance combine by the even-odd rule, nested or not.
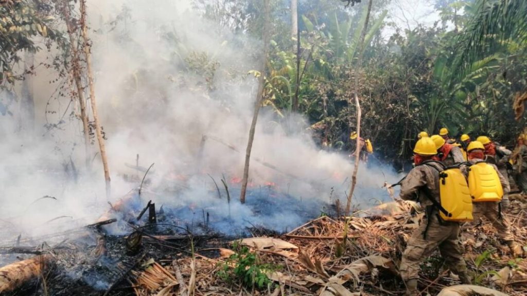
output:
[[[352,205],[353,192],[355,191],[355,185],[357,184],[357,172],[359,170],[360,149],[362,148],[362,145],[360,144],[360,116],[362,116],[362,110],[360,110],[360,102],[359,102],[359,96],[358,96],[359,71],[360,71],[360,66],[362,65],[362,58],[363,58],[363,52],[364,52],[364,38],[366,37],[366,31],[368,29],[369,14],[372,11],[372,2],[373,0],[369,0],[368,2],[368,12],[366,14],[366,21],[364,22],[364,27],[362,29],[362,32],[360,33],[359,56],[358,56],[357,67],[355,71],[354,97],[355,97],[355,106],[357,109],[357,144],[355,147],[355,166],[353,168],[353,175],[352,175],[352,188],[349,190],[348,202],[346,203],[346,216],[349,215],[349,208]]]

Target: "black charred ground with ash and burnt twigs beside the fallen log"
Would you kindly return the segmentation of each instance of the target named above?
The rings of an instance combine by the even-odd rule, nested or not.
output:
[[[197,253],[199,249],[226,247],[232,239],[214,233],[174,235],[170,239],[164,233],[144,232],[139,249],[131,253],[124,236],[104,236],[106,254],[100,256],[97,256],[96,244],[67,244],[69,248],[53,252],[56,260],[45,268],[45,284],[40,277],[6,296],[134,295],[128,275],[142,262],[190,256],[192,246]],[[219,256],[214,250],[202,254],[209,258]]]

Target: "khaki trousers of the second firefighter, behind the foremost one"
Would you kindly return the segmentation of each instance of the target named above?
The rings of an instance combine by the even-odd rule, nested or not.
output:
[[[509,221],[502,216],[500,219],[499,208],[497,202],[475,202],[472,204],[472,216],[474,220],[467,223],[467,228],[471,228],[480,223],[481,218],[485,218],[492,223],[492,226],[497,230],[497,235],[505,242],[514,240],[514,236],[509,229]],[[465,228],[465,226],[463,226]]]

